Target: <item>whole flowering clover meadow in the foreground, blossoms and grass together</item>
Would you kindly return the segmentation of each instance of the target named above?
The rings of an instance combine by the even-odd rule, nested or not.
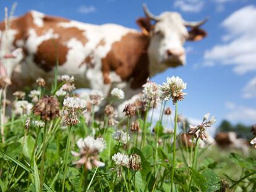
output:
[[[9,119],[1,116],[1,191],[255,191],[254,156],[208,144],[215,117],[202,115],[200,125],[189,126],[179,119],[187,97],[179,77],[163,85],[148,80],[123,114],[116,112],[125,94],[119,88],[111,98],[98,90],[74,94],[74,77],[57,72],[51,89],[42,78],[36,85],[15,92],[13,102],[7,86],[1,90],[1,114],[12,108]],[[181,140],[182,133],[192,138]]]

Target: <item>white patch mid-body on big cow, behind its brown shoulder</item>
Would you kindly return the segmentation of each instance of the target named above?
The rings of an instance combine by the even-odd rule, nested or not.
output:
[[[67,61],[64,65],[59,67],[59,71],[61,73],[68,71],[70,75],[78,77],[77,80],[83,81],[83,85],[87,82],[87,87],[101,90],[105,96],[107,96],[111,84],[105,85],[103,83],[101,60],[106,57],[114,42],[121,40],[122,36],[127,33],[136,32],[136,30],[114,24],[91,25],[76,21],[70,21],[68,23],[62,22],[58,25],[63,28],[79,28],[79,30],[84,31],[83,35],[89,40],[86,44],[82,44],[82,42],[75,39],[71,39],[67,42],[67,47],[69,48]],[[102,40],[104,40],[104,45],[97,46]],[[91,58],[90,62],[92,62],[93,68],[87,65],[82,65],[82,67],[79,68],[79,65],[84,62],[86,57]],[[109,72],[109,79],[111,83],[119,83],[122,81],[116,72]],[[82,82],[80,84],[82,84]]]

